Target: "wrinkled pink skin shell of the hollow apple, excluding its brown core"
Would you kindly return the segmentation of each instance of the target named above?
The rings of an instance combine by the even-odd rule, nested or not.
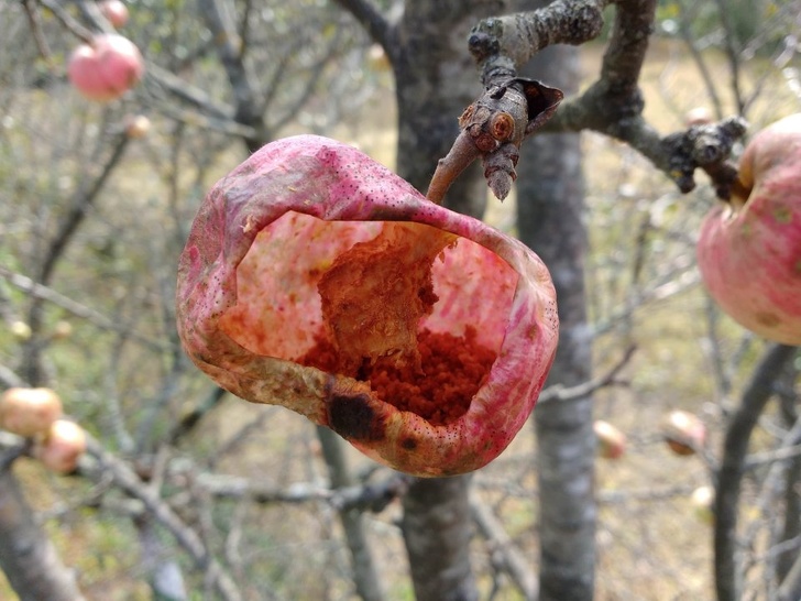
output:
[[[366,382],[293,360],[322,328],[320,273],[387,221],[463,237],[432,265],[440,300],[421,326],[461,335],[472,325],[498,353],[468,412],[448,425],[396,409]],[[180,256],[176,314],[185,350],[226,390],[284,405],[424,477],[475,470],[506,448],[534,408],[558,339],[556,293],[534,252],[427,200],[355,149],[314,135],[273,142],[215,185]]]

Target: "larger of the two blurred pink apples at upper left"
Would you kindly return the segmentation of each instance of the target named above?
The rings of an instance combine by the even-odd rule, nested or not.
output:
[[[122,35],[106,33],[91,44],[81,44],[69,57],[67,75],[76,89],[90,100],[119,98],[139,84],[144,59],[139,48]]]

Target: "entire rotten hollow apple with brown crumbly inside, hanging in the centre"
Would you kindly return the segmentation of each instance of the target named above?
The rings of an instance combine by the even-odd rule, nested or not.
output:
[[[213,186],[176,313],[188,356],[222,387],[428,477],[506,448],[558,339],[534,252],[315,135],[267,144]]]

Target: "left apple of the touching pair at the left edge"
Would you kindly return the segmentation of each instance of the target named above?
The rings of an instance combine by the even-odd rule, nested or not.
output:
[[[20,436],[47,431],[62,415],[62,400],[51,389],[9,389],[0,396],[0,426]]]

